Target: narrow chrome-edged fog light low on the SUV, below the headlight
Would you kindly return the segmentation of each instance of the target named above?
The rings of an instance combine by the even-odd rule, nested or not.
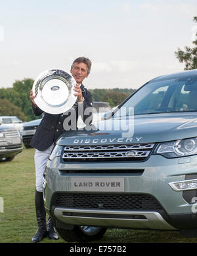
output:
[[[171,188],[175,191],[196,190],[197,189],[197,179],[182,180],[180,182],[169,182],[169,186],[171,186]]]

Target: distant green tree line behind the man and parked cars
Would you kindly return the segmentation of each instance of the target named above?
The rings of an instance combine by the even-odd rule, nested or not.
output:
[[[14,82],[12,88],[0,88],[0,116],[18,116],[23,121],[38,118],[33,114],[29,98],[33,82],[33,79],[25,78]],[[93,94],[93,101],[106,101],[115,107],[135,90],[115,88],[89,91]]]

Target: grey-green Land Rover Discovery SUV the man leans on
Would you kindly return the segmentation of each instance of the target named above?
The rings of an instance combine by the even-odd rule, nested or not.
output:
[[[43,175],[45,208],[68,242],[106,228],[197,236],[197,70],[150,80],[108,120],[66,132]]]

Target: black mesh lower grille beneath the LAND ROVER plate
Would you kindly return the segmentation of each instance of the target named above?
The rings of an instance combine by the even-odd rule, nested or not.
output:
[[[54,207],[74,209],[158,211],[162,206],[152,195],[143,193],[55,193]]]

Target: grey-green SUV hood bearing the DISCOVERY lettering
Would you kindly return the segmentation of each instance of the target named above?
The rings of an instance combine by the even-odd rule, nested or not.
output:
[[[197,136],[197,113],[165,113],[112,118],[90,128],[64,132],[58,145],[154,143]],[[88,130],[89,129],[89,130]]]

